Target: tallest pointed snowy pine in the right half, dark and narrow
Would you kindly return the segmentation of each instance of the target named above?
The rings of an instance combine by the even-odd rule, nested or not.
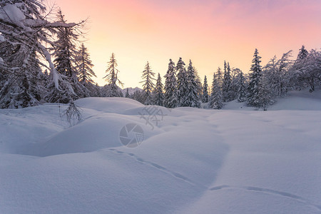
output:
[[[248,85],[248,105],[260,107],[259,102],[259,83],[262,77],[262,66],[260,66],[260,56],[258,56],[258,49],[255,49],[254,56],[253,56],[253,64],[250,68],[250,80]]]

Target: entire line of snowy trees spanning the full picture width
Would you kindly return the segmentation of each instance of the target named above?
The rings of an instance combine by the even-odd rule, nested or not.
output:
[[[79,39],[86,21],[68,23],[61,10],[54,21],[49,20],[39,0],[5,0],[0,6],[0,108],[72,103],[88,96],[124,96],[115,54],[108,61],[107,84],[100,87],[94,83],[93,63]],[[164,84],[160,73],[156,78],[147,62],[143,91],[129,94],[127,90],[125,97],[167,108],[220,109],[226,102],[237,100],[266,109],[288,91],[309,87],[312,92],[320,86],[321,52],[302,46],[295,60],[291,54],[288,51],[261,66],[255,49],[250,73],[224,61],[223,68],[213,73],[211,86],[207,76],[201,83],[192,61],[186,65],[182,58],[176,64],[170,59]]]

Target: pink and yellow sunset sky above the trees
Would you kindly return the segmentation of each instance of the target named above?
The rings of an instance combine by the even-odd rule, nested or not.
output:
[[[100,86],[109,58],[126,87],[141,87],[147,61],[163,77],[169,59],[212,78],[224,61],[248,73],[255,49],[270,58],[321,48],[320,0],[56,0],[67,21],[88,18],[85,46]],[[163,83],[165,82],[163,78]]]

